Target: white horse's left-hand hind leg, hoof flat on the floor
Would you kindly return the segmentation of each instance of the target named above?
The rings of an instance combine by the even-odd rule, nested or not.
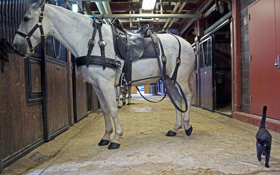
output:
[[[178,89],[173,84],[173,81],[171,79],[166,79],[166,85],[177,106],[179,108],[182,108],[182,96],[180,95]],[[177,109],[175,109],[175,111],[176,111],[175,125],[166,133],[166,136],[175,136],[177,134],[178,129],[182,128],[182,112],[179,112]]]

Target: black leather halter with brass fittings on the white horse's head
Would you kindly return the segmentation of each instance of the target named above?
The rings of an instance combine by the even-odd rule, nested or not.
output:
[[[28,33],[28,34],[24,34],[20,31],[17,31],[16,34],[20,35],[20,36],[23,36],[26,40],[27,40],[27,43],[28,43],[28,46],[29,46],[29,51],[28,51],[28,55],[32,55],[35,51],[35,48],[32,46],[32,43],[31,43],[31,40],[30,40],[30,37],[33,35],[33,33],[39,28],[40,29],[40,33],[41,33],[41,41],[42,41],[42,46],[43,46],[43,50],[45,49],[45,46],[46,46],[46,42],[45,42],[45,35],[44,35],[44,31],[43,31],[43,18],[44,18],[44,8],[45,8],[45,4],[41,7],[41,11],[40,11],[40,14],[39,14],[39,20],[38,22],[36,23],[36,25],[33,27],[33,29]],[[24,57],[26,58],[28,55],[24,55]]]

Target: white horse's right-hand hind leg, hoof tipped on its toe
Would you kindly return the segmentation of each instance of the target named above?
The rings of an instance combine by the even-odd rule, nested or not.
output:
[[[187,112],[185,112],[184,117],[183,117],[184,130],[186,132],[186,135],[190,136],[190,134],[193,131],[193,127],[191,126],[191,124],[189,124],[190,107],[191,107],[191,104],[192,104],[193,98],[194,98],[194,73],[193,72],[190,73],[188,83],[186,83],[186,85],[183,85],[181,88],[184,91],[187,102],[188,102],[188,110],[187,110]]]

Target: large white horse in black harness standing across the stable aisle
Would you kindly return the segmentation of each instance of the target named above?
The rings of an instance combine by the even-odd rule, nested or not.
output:
[[[31,29],[38,22],[41,7],[44,5],[45,0],[39,0],[33,4],[26,12],[18,31],[22,33],[29,33]],[[88,18],[82,14],[75,13],[65,8],[45,4],[44,17],[43,17],[43,30],[45,37],[53,36],[60,43],[63,44],[76,58],[85,56],[88,50],[88,40],[92,36],[93,22],[94,20]],[[106,57],[115,58],[114,45],[113,45],[113,33],[110,25],[103,24],[102,36],[106,43]],[[162,41],[163,49],[167,57],[166,73],[171,77],[174,68],[176,66],[176,57],[178,56],[178,41],[174,36],[170,34],[158,34],[158,37]],[[194,97],[193,82],[194,82],[194,60],[195,55],[190,43],[186,40],[178,37],[181,43],[181,60],[182,63],[178,69],[177,82],[181,85],[182,91],[186,95],[187,103],[189,105],[188,110],[183,116],[183,126],[187,135],[190,135],[192,129],[190,120],[190,105]],[[39,29],[34,32],[30,37],[33,46],[39,44],[41,39]],[[98,41],[98,31],[96,34],[96,40]],[[28,54],[29,45],[25,37],[16,35],[14,39],[14,48]],[[162,53],[162,51],[161,51]],[[100,47],[93,47],[91,55],[101,55]],[[117,58],[123,66],[124,60]],[[162,64],[162,63],[161,63]],[[160,76],[157,59],[147,58],[138,59],[132,63],[132,80],[144,79],[148,77]],[[111,141],[108,149],[115,149],[120,146],[120,137],[122,136],[122,127],[118,118],[118,107],[115,103],[114,87],[118,85],[120,73],[117,69],[106,67],[102,69],[100,65],[86,65],[80,67],[83,78],[92,84],[95,92],[97,93],[102,113],[105,120],[105,134],[99,145],[109,144],[111,141],[110,134],[113,132],[110,115],[115,125],[115,136]],[[132,86],[140,86],[145,84],[154,83],[159,78],[146,79],[132,83]],[[170,90],[171,96],[173,96],[175,103],[178,107],[182,108],[182,96],[178,91],[178,86],[173,84],[170,78],[166,79],[167,87]],[[173,128],[166,134],[167,136],[174,136],[178,129],[182,128],[182,113],[176,109],[176,121]]]

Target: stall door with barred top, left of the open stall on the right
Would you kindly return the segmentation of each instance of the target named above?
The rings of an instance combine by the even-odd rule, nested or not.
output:
[[[201,108],[214,112],[214,36],[199,44],[200,104]]]

